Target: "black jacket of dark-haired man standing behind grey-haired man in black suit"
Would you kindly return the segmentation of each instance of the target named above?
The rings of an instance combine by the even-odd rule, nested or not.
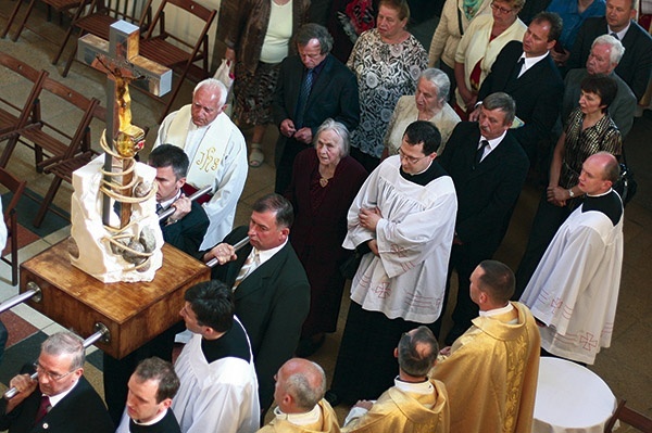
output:
[[[501,50],[491,72],[482,81],[478,101],[494,92],[505,92],[514,98],[516,116],[525,122],[525,126],[511,129],[509,133],[521,143],[530,161],[534,161],[538,143],[550,138],[560,115],[564,81],[550,55],[514,79],[522,54],[523,43],[519,41],[513,40]]]

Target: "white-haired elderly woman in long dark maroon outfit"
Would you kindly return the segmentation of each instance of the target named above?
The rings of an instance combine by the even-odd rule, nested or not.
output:
[[[310,313],[303,323],[298,356],[322,346],[326,332],[335,332],[344,278],[339,266],[351,252],[342,249],[347,213],[366,179],[366,170],[348,156],[349,131],[333,119],[322,124],[314,149],[294,160],[286,196],[294,207],[290,242],[305,268],[311,288]]]

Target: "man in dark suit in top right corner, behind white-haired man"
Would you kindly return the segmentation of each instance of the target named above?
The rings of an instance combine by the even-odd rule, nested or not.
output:
[[[637,101],[640,101],[652,74],[652,37],[635,18],[635,0],[607,0],[606,15],[588,18],[580,27],[570,50],[568,68],[584,67],[591,52],[591,44],[598,36],[615,35],[625,47],[616,74],[627,82]]]

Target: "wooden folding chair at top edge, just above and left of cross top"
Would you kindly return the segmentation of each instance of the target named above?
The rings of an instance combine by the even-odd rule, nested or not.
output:
[[[152,14],[151,2],[152,0],[147,0],[145,7],[142,8],[142,12],[139,14],[139,16],[136,16],[136,2],[133,2],[131,11],[129,11],[128,0],[84,0],[82,9],[88,10],[88,13],[82,14],[71,24],[63,42],[61,43],[61,47],[59,48],[59,52],[52,61],[52,64],[55,65],[59,63],[59,59],[63,54],[63,51],[75,30],[78,30],[78,37],[90,34],[104,40],[109,40],[111,25],[120,20],[125,20],[135,24],[141,23],[143,26],[148,26],[151,22]],[[63,73],[61,74],[63,77],[67,76],[71,65],[75,60],[75,54],[77,53],[77,39],[74,38],[73,40],[75,43],[67,61],[65,62]]]

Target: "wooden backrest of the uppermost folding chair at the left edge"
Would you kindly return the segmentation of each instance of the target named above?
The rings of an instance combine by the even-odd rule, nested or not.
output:
[[[15,97],[11,97],[11,99],[0,97],[0,101],[4,104],[3,107],[0,107],[1,135],[12,130],[17,130],[27,124],[32,106],[38,98],[38,94],[41,90],[42,80],[48,76],[48,72],[36,71],[28,64],[23,63],[3,52],[0,52],[0,65],[12,71],[15,75],[20,75],[22,78],[33,82],[32,89],[25,99],[23,106],[17,105]],[[8,78],[4,78],[3,80],[7,82]]]

